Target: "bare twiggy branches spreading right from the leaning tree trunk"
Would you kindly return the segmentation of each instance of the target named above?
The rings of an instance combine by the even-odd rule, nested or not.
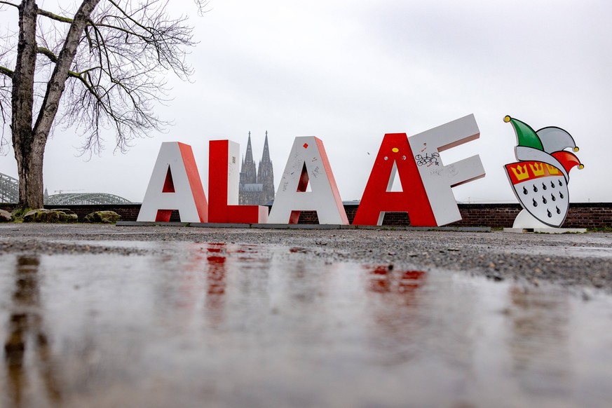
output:
[[[123,6],[123,3],[121,4]],[[186,18],[169,18],[166,3],[116,1],[97,8],[83,32],[81,48],[71,67],[62,110],[64,125],[76,126],[85,137],[81,151],[99,153],[100,130],[111,127],[116,147],[125,151],[133,137],[163,130],[169,123],[154,114],[167,98],[166,70],[187,79],[184,48],[193,46]],[[82,109],[74,111],[74,107]]]

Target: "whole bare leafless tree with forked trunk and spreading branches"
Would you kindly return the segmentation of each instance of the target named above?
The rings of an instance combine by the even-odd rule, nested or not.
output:
[[[195,0],[203,12],[207,1]],[[10,132],[18,165],[19,208],[43,206],[43,154],[55,123],[83,135],[83,151],[102,149],[111,128],[121,151],[134,137],[163,128],[153,111],[163,99],[161,73],[191,74],[186,17],[171,18],[168,1],[82,0],[76,11],[43,10],[36,0],[0,0],[16,8],[18,41],[0,36],[2,145]],[[12,41],[11,41],[12,40]],[[11,66],[11,62],[14,62]]]

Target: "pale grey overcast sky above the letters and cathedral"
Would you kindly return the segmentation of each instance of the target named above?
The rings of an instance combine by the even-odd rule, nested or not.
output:
[[[212,0],[191,15],[198,46],[192,83],[170,79],[158,114],[175,125],[136,140],[127,154],[76,156],[79,138],[57,130],[44,182],[56,191],[107,192],[142,201],[161,142],[193,147],[208,191],[208,140],[229,139],[256,161],[268,130],[278,187],[294,137],[325,144],[343,200],[360,199],[383,135],[409,136],[474,114],[480,140],[442,154],[444,164],[480,154],[487,176],[454,189],[459,201],[516,202],[503,165],[516,161],[512,125],[555,125],[573,135],[583,170],[571,201],[610,201],[612,2]],[[0,24],[16,20],[1,12]],[[2,30],[4,33],[4,29]],[[13,151],[0,172],[16,177]]]

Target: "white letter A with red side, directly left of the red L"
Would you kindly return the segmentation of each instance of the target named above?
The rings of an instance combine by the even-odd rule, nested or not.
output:
[[[172,210],[178,210],[181,222],[208,222],[208,203],[191,146],[164,142],[137,221],[168,222]]]

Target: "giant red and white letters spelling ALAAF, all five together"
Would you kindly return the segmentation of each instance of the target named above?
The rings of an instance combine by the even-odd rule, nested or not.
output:
[[[444,165],[440,152],[476,140],[474,115],[408,137],[383,137],[354,225],[381,225],[385,212],[408,212],[412,226],[441,226],[459,221],[452,188],[484,177],[480,156]],[[301,211],[316,211],[320,224],[348,224],[338,186],[322,140],[296,137],[280,179],[269,217],[261,205],[238,205],[237,143],[211,140],[208,193],[187,144],[161,145],[138,222],[168,222],[178,210],[182,222],[221,224],[297,224]],[[395,174],[402,191],[391,191]],[[311,191],[308,191],[311,184]]]

